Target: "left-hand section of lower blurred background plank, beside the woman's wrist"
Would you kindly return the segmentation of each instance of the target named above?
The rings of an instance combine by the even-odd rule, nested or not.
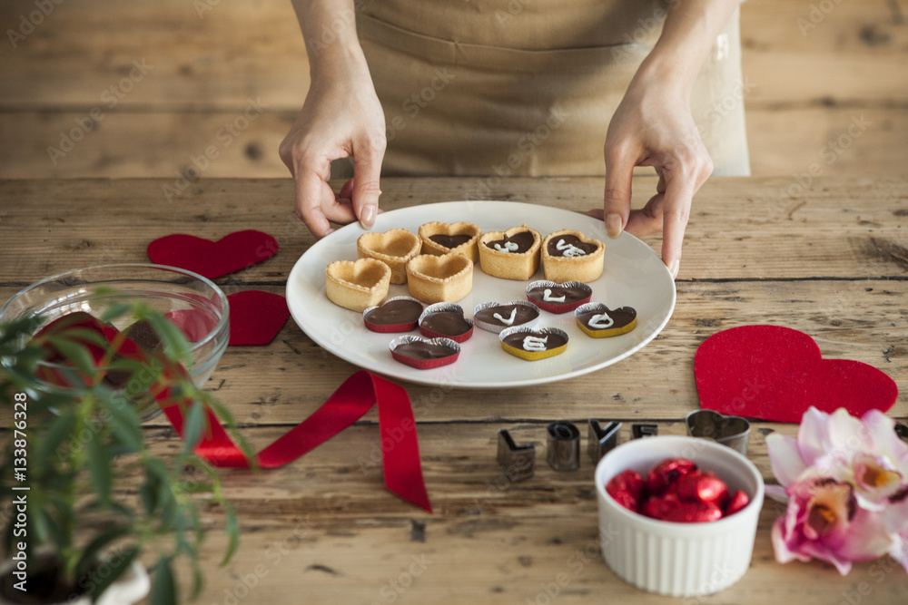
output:
[[[103,108],[96,121],[91,110],[0,112],[0,178],[290,176],[278,145],[294,119],[254,98],[235,112]]]

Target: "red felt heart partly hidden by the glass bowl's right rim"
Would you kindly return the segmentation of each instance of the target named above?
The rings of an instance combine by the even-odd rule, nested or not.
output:
[[[290,317],[287,301],[280,294],[245,290],[227,297],[230,303],[228,346],[267,345]]]

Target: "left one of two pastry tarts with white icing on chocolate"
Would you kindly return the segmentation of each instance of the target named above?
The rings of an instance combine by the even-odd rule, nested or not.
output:
[[[539,268],[542,236],[526,225],[489,231],[479,238],[479,265],[496,278],[529,279]]]

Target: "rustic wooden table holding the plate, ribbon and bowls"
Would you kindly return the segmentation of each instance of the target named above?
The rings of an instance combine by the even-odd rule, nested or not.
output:
[[[283,293],[312,243],[291,210],[290,180],[192,182],[168,201],[172,179],[0,181],[0,300],[69,268],[145,261],[152,239],[174,232],[218,239],[238,229],[276,237],[278,254],[219,283],[227,291]],[[381,205],[462,200],[476,179],[386,179]],[[654,189],[636,182],[635,204]],[[503,181],[496,199],[587,210],[601,203],[599,179]],[[658,249],[659,239],[648,243]],[[698,407],[696,347],[718,330],[768,323],[813,336],[824,356],[876,366],[904,387],[908,376],[908,179],[713,179],[697,195],[677,279],[674,317],[662,334],[616,366],[551,385],[458,391],[407,385],[435,513],[387,492],[373,412],[299,461],[278,470],[223,473],[242,523],[240,550],[217,566],[222,518],[212,515],[202,603],[668,602],[637,590],[598,556],[593,466],[502,482],[499,428],[538,427],[567,416],[655,422],[684,434]],[[309,415],[354,366],[331,356],[291,320],[266,347],[223,356],[209,388],[229,405],[258,447]],[[904,388],[903,388],[904,390]],[[900,395],[892,415],[908,416]],[[795,426],[756,423],[750,457],[772,480],[764,436]],[[163,418],[146,428],[161,452],[179,446]],[[540,452],[544,454],[544,447]],[[840,577],[829,565],[775,562],[761,515],[752,569],[732,588],[682,602],[895,603],[908,574],[889,559]],[[551,596],[557,592],[557,597]],[[676,601],[676,600],[673,600]]]

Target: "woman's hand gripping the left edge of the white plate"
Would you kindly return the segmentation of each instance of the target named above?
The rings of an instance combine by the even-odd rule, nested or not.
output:
[[[331,233],[329,221],[372,226],[386,143],[384,113],[359,47],[324,59],[279,149],[296,183],[296,214],[317,238]],[[353,178],[335,194],[331,161],[341,158],[353,159]]]

